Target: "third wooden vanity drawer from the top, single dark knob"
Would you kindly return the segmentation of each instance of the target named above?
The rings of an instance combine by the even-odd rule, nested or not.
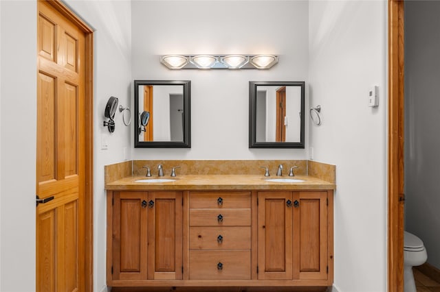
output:
[[[250,250],[250,227],[191,227],[190,250]]]

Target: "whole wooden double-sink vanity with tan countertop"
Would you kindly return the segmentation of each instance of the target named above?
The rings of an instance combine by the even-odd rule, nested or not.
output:
[[[303,182],[236,174],[165,178],[174,181],[107,180],[109,287],[333,283],[334,182],[310,175],[294,177]]]

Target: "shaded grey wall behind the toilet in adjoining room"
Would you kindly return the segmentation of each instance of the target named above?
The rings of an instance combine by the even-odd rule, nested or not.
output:
[[[440,269],[440,2],[405,2],[405,226]]]

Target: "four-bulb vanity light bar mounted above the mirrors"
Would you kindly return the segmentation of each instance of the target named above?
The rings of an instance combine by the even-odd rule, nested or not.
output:
[[[160,62],[168,69],[270,69],[274,55],[166,55]]]

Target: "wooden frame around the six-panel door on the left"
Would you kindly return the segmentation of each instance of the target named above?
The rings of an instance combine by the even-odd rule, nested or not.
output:
[[[43,0],[52,5],[66,19],[72,21],[85,34],[85,291],[94,289],[94,35],[93,30],[74,14],[61,0]]]

